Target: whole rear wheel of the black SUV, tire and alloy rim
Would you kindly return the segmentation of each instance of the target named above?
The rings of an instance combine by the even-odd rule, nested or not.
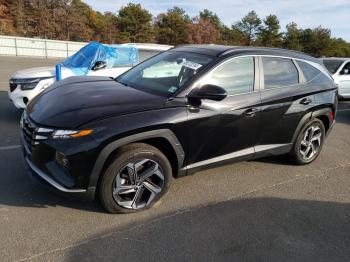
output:
[[[290,154],[290,159],[298,165],[314,161],[322,150],[325,128],[319,119],[313,119],[300,131]]]

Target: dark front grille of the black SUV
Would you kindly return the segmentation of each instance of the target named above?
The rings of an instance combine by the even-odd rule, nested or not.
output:
[[[29,119],[26,113],[22,117],[22,133],[26,146],[30,151],[40,144],[41,141],[47,140],[53,133],[53,129],[43,128],[36,125]]]

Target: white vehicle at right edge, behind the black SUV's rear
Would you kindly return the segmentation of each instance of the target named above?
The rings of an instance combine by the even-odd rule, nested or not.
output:
[[[339,97],[350,98],[350,58],[324,58],[323,64],[339,86]]]

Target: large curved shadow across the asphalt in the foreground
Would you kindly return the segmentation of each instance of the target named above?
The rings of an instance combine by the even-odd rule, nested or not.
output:
[[[66,260],[348,261],[349,222],[348,203],[231,200],[102,232]]]

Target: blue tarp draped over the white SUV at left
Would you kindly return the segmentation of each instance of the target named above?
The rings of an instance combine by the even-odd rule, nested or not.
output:
[[[105,61],[107,68],[131,66],[138,62],[137,48],[132,46],[108,46],[91,42],[68,57],[62,63],[62,66],[71,69],[75,75],[86,75],[97,61]]]

